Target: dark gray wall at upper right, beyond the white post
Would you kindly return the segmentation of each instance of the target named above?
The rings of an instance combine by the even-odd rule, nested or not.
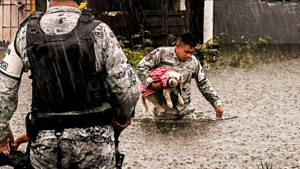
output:
[[[272,44],[300,44],[300,1],[214,1],[214,35],[224,32],[237,43],[269,35]]]

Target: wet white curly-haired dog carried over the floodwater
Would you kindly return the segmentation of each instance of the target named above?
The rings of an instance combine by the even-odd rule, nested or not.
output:
[[[163,95],[167,101],[167,106],[169,108],[173,107],[173,103],[172,103],[171,96],[170,96],[171,92],[174,92],[178,96],[179,105],[181,105],[181,106],[184,105],[184,101],[183,101],[183,99],[179,93],[178,87],[177,87],[182,82],[182,80],[183,80],[182,75],[176,71],[171,71],[168,74],[167,88],[163,90]],[[165,112],[165,109],[163,107],[161,107],[161,105],[159,104],[158,92],[155,92],[146,97],[141,95],[141,100],[142,100],[142,104],[144,107],[144,113],[149,111],[148,105],[146,103],[146,99],[148,101],[150,101],[152,104],[154,104],[154,107],[157,110],[157,111],[153,112],[153,113],[155,113],[155,116],[161,116]]]

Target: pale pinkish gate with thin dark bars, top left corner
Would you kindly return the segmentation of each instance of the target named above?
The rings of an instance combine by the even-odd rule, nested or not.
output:
[[[14,4],[16,0],[0,1],[0,40],[10,41],[20,23],[30,15],[29,0],[20,1],[24,4],[22,10]]]

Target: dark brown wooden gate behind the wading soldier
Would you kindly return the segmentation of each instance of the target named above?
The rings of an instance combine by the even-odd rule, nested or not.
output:
[[[168,35],[181,35],[186,26],[186,11],[175,11],[169,1],[161,1],[161,10],[144,11],[144,30],[155,45],[168,45]],[[171,10],[170,10],[171,9]],[[172,10],[173,9],[173,10]]]

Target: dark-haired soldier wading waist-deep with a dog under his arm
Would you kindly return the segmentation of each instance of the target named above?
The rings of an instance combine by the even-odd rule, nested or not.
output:
[[[216,116],[218,118],[222,117],[223,110],[219,96],[211,86],[199,61],[192,55],[195,46],[196,40],[193,35],[186,33],[180,36],[175,47],[159,47],[145,56],[137,65],[137,75],[146,88],[152,87],[157,90],[162,90],[162,83],[155,84],[153,79],[149,76],[149,72],[158,67],[177,71],[183,76],[184,82],[180,84],[180,89],[184,106],[180,106],[176,101],[176,104],[173,104],[173,108],[168,108],[161,94],[161,98],[159,98],[160,103],[161,106],[166,109],[166,112],[161,118],[181,119],[195,110],[190,100],[190,81],[192,78],[196,80],[198,89],[202,95],[215,108]],[[176,100],[176,98],[172,100]],[[154,114],[157,113],[154,112]]]

